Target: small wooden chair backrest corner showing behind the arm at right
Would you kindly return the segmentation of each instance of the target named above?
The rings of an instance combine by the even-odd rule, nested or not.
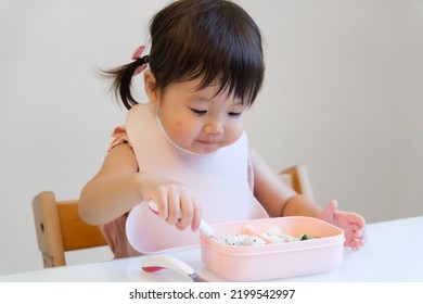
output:
[[[310,199],[315,200],[310,178],[307,172],[306,166],[295,165],[289,168],[285,168],[279,173],[279,177],[287,186],[293,188],[298,194],[303,194]]]

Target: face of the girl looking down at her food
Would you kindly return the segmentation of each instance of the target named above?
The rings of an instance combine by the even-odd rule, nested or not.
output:
[[[216,94],[218,86],[197,90],[201,79],[171,84],[157,98],[162,124],[170,139],[194,153],[209,154],[236,141],[247,105]]]

